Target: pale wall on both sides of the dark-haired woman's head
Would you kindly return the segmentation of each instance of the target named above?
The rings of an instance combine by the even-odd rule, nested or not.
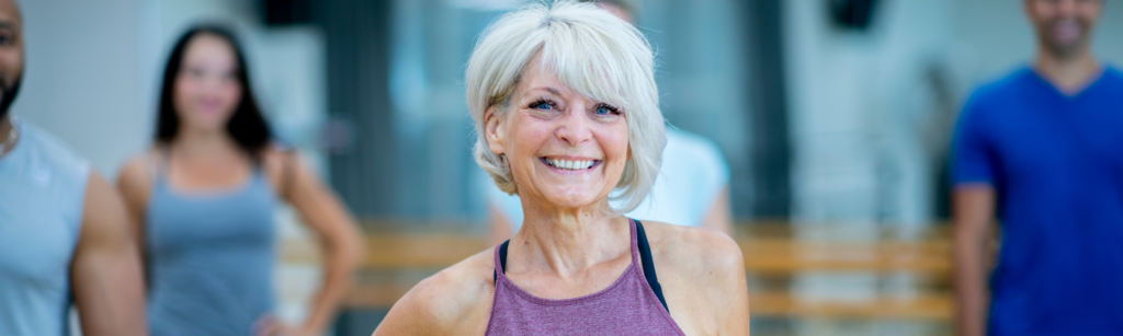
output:
[[[312,146],[326,115],[323,37],[255,26],[249,0],[20,1],[27,65],[12,113],[49,131],[115,178],[150,143],[159,76],[174,39],[200,20],[245,35],[256,91],[275,129],[319,171]]]

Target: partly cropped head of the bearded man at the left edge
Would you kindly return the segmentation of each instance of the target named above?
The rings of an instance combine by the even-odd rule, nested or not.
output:
[[[24,19],[16,0],[0,0],[0,118],[16,101],[24,77]]]

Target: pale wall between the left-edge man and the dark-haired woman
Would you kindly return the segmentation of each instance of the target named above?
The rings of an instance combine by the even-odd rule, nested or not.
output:
[[[27,65],[12,113],[115,176],[147,138],[139,0],[20,1]]]

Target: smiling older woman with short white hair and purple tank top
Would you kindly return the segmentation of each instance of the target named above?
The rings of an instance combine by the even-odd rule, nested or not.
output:
[[[492,24],[467,67],[475,157],[520,196],[523,226],[419,283],[374,334],[747,335],[737,243],[621,215],[651,189],[666,141],[652,67],[642,35],[595,4]]]

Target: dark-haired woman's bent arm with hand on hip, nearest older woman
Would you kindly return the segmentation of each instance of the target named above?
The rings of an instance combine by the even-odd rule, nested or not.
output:
[[[339,197],[310,169],[296,160],[289,166],[293,169],[292,179],[287,181],[290,185],[284,197],[319,235],[321,252],[326,256],[323,287],[317,293],[312,315],[303,327],[307,333],[319,334],[331,324],[339,304],[350,290],[351,273],[365,254],[363,233]]]

